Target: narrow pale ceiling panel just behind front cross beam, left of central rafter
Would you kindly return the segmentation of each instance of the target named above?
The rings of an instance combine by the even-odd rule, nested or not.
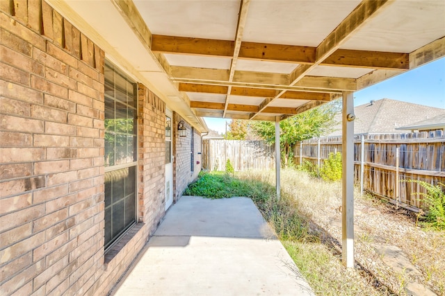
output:
[[[230,69],[231,58],[216,58],[200,55],[175,55],[165,54],[165,59],[170,66],[209,68],[209,69]]]

